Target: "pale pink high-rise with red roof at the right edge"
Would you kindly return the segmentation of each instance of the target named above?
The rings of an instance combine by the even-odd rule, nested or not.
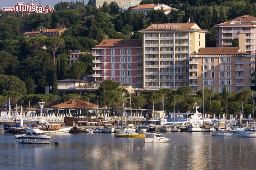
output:
[[[213,26],[217,28],[217,47],[231,47],[232,40],[239,38],[240,41],[245,41],[244,46],[240,46],[243,51],[249,54],[255,53],[256,44],[256,18],[250,15],[237,17],[230,21]],[[244,40],[241,40],[241,39]]]

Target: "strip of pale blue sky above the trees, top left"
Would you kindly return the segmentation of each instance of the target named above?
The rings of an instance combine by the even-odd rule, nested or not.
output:
[[[31,1],[31,0],[29,0],[29,1]],[[42,6],[49,5],[49,6],[54,7],[54,5],[60,1],[70,2],[71,0],[41,0],[41,5]],[[77,0],[77,1],[79,1],[79,0]],[[84,1],[85,5],[88,3],[88,1],[89,0]],[[24,4],[27,4],[27,0],[0,0],[0,9],[2,10],[2,7],[14,7],[17,2],[24,2]],[[75,0],[74,0],[74,2],[75,2]],[[33,3],[39,4],[39,0],[33,0]]]

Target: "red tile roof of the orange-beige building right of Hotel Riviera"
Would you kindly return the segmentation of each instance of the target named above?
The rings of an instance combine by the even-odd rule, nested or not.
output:
[[[242,52],[240,47],[208,47],[200,48],[194,55],[250,55],[246,52]]]

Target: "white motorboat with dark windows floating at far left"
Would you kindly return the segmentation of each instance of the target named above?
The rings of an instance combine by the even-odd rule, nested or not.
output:
[[[15,139],[18,139],[18,143],[30,143],[30,144],[48,144],[54,140],[52,136],[47,136],[40,129],[22,129],[20,133],[15,135]]]

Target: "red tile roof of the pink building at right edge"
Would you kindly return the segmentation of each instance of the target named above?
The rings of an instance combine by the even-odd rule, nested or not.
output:
[[[243,23],[243,24],[231,24],[233,21],[247,21],[246,23]],[[214,25],[213,28],[218,28],[219,26],[242,26],[242,25],[256,25],[256,18],[255,17],[252,17],[250,15],[244,15],[244,16],[241,16],[241,17],[237,17],[235,19],[232,19],[232,20],[229,20],[227,22],[223,22],[223,23],[220,23],[220,24],[217,24],[217,25]]]

